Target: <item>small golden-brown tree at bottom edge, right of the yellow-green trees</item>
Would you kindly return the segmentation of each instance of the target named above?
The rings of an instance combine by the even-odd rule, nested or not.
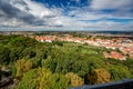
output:
[[[76,73],[69,72],[65,75],[65,77],[70,79],[70,85],[72,87],[82,86],[84,83],[83,80]]]

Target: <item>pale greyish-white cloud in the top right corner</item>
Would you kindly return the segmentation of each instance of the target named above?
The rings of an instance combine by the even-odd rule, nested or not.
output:
[[[133,9],[133,0],[92,0],[90,8],[94,10],[101,9],[117,9],[131,10]]]

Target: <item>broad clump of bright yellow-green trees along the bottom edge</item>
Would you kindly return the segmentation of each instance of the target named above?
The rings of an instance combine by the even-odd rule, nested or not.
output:
[[[69,79],[63,75],[51,73],[45,68],[31,69],[25,72],[17,89],[66,89]]]

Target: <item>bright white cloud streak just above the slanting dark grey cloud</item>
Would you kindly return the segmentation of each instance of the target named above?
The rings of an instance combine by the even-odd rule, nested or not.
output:
[[[39,17],[39,18],[44,18],[48,16],[52,17],[54,14],[52,11],[50,11],[48,8],[45,8],[41,3],[37,3],[31,0],[23,0],[23,1],[25,2],[25,6],[20,4],[20,3],[13,4],[13,1],[11,1],[11,3],[12,3],[12,6],[17,7],[18,9],[25,11],[25,12],[30,12],[33,16]],[[25,8],[29,8],[29,10],[27,10]]]

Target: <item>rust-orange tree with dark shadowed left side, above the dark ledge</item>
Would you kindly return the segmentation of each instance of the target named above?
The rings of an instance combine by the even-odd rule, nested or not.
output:
[[[104,83],[109,82],[111,79],[111,75],[104,69],[94,69],[91,75],[88,76],[88,83],[95,85],[95,83]]]

